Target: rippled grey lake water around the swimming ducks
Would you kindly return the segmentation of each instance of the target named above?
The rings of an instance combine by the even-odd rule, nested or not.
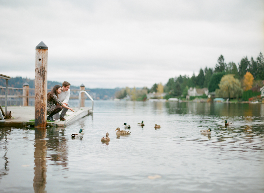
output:
[[[264,104],[95,101],[66,128],[0,132],[2,193],[264,192]]]

